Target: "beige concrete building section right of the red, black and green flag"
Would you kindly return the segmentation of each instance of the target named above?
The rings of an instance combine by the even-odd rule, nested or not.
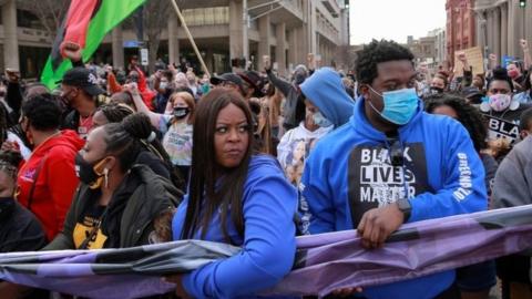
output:
[[[229,71],[247,58],[254,69],[263,69],[269,55],[280,74],[305,63],[307,53],[321,58],[321,65],[334,65],[337,50],[349,43],[349,13],[345,0],[195,0],[181,7],[184,19],[203,59],[216,73]],[[247,9],[246,9],[247,8]],[[246,13],[247,11],[247,13]],[[168,19],[162,32],[160,53],[170,63],[195,54],[177,18]],[[246,20],[247,18],[247,20]],[[135,40],[132,30],[115,32],[105,41],[113,43],[113,61],[120,65],[123,41]],[[122,55],[122,58],[120,56]],[[197,65],[197,64],[196,64]]]

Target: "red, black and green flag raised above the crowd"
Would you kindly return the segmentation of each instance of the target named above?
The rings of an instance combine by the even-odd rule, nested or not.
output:
[[[52,52],[41,74],[41,82],[54,89],[63,74],[72,69],[70,60],[63,60],[60,45],[75,42],[83,49],[83,61],[96,51],[105,35],[127,18],[146,0],[72,0],[63,23],[58,29]]]

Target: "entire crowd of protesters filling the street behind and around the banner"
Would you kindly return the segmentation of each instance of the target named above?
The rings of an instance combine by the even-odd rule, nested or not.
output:
[[[356,229],[368,250],[402,224],[531,204],[532,66],[463,75],[372,41],[346,74],[314,55],[198,76],[83,64],[65,43],[58,89],[13,70],[0,86],[0,252],[181,239],[242,247],[166,277],[181,298],[252,298],[278,283],[296,236]],[[3,91],[2,91],[3,90]],[[354,298],[532,298],[530,252],[375,287]],[[0,281],[2,298],[45,290]]]

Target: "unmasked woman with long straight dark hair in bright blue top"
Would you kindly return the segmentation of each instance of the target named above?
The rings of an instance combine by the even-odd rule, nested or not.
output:
[[[215,89],[197,105],[188,195],[173,219],[174,240],[227,243],[242,251],[174,277],[182,297],[250,298],[291,268],[297,193],[273,157],[254,155],[252,124],[235,92]]]

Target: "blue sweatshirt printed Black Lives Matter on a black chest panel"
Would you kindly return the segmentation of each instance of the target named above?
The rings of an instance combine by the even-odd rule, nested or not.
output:
[[[349,123],[325,136],[307,159],[300,187],[311,234],[355,229],[365,212],[403,197],[405,190],[412,195],[409,223],[487,209],[482,162],[460,123],[424,113],[419,102],[417,114],[398,128],[395,144],[402,144],[403,166],[393,167],[388,154],[393,145],[368,122],[364,103],[357,101]],[[364,295],[433,298],[453,280],[454,271],[444,271],[368,287]]]

